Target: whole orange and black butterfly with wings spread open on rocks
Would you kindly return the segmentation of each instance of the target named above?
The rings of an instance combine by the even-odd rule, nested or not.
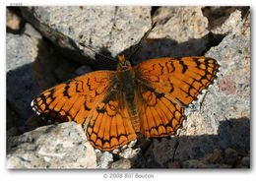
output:
[[[184,109],[215,79],[220,64],[203,56],[150,59],[134,67],[118,56],[116,71],[95,71],[40,93],[32,109],[51,121],[81,124],[101,151],[174,135]]]

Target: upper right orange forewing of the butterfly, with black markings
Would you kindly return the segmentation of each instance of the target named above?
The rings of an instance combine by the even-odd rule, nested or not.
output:
[[[216,79],[220,65],[207,57],[151,59],[135,66],[137,80],[187,106]]]

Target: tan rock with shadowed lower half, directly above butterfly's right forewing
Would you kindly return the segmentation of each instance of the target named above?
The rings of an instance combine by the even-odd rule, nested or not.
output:
[[[133,57],[134,64],[152,58],[202,55],[213,40],[223,38],[208,30],[202,7],[160,7],[152,18],[158,25]]]

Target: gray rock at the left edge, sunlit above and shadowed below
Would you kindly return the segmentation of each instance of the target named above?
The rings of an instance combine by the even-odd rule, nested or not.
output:
[[[40,39],[30,25],[23,35],[6,35],[7,101],[23,119],[32,115],[30,102],[39,92],[33,78],[32,61]]]

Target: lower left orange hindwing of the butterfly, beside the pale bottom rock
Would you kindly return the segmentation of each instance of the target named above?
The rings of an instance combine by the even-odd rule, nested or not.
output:
[[[136,140],[127,107],[120,92],[110,91],[88,118],[87,137],[96,149],[111,151]]]

